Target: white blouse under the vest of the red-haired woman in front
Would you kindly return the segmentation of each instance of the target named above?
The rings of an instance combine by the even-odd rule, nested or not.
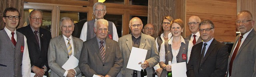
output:
[[[180,38],[181,38],[181,42],[180,42],[180,43],[183,42],[183,43],[186,44],[184,38],[183,38],[182,36],[180,36]],[[173,40],[173,37],[170,38],[170,40],[168,41],[168,44],[171,44],[171,45],[172,45],[172,40]],[[192,47],[193,47],[193,43],[192,43],[191,41],[189,41],[189,43],[188,43],[187,62],[189,61]],[[176,60],[177,60],[177,59],[176,59],[176,56],[177,56],[179,50],[180,50],[180,49],[174,50],[174,49],[172,48],[172,56],[173,56],[173,58],[172,58],[172,64],[176,64],[176,63],[177,63],[177,61],[176,61]],[[161,44],[159,56],[160,56],[160,62],[164,62],[164,63],[165,63],[165,47],[164,47],[164,43]]]

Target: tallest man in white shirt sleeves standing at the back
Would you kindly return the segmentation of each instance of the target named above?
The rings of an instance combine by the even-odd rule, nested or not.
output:
[[[94,38],[96,34],[94,33],[94,22],[97,19],[104,19],[104,15],[106,15],[106,5],[101,2],[96,2],[93,6],[93,14],[95,19],[91,21],[87,21],[84,23],[84,26],[81,31],[80,39],[83,41]],[[107,38],[118,41],[118,35],[116,31],[116,26],[113,22],[108,21],[108,35]]]

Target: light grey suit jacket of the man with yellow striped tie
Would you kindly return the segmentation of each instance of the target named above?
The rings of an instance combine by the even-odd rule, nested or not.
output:
[[[74,56],[79,60],[82,50],[82,40],[76,37],[72,37],[74,48]],[[62,65],[68,60],[68,50],[63,35],[52,38],[50,40],[48,49],[48,65],[51,71],[51,77],[63,77],[65,69]],[[79,67],[74,68],[76,70],[76,76],[82,77]]]

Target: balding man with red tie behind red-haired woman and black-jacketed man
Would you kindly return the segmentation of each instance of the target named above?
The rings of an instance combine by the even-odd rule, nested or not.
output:
[[[189,27],[189,31],[191,32],[191,35],[188,35],[186,39],[191,40],[194,45],[202,42],[202,39],[200,38],[200,33],[199,33],[200,22],[201,22],[201,19],[195,15],[189,17],[188,19],[188,27]]]

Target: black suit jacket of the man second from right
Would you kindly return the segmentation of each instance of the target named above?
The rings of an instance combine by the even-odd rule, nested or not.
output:
[[[199,67],[202,46],[203,42],[192,47],[187,76],[224,77],[228,64],[228,46],[213,39]]]

